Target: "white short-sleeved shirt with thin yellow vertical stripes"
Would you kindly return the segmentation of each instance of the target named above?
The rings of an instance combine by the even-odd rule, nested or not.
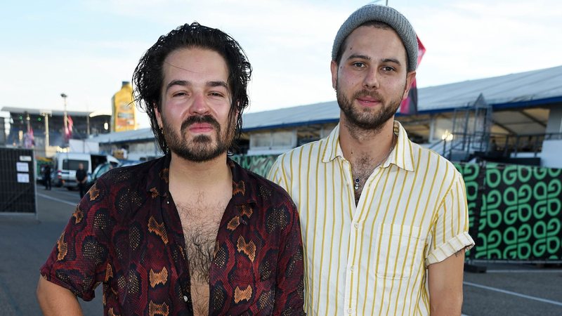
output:
[[[429,315],[427,266],[474,244],[461,174],[398,121],[394,130],[395,149],[357,206],[339,125],[269,173],[299,208],[308,315]]]

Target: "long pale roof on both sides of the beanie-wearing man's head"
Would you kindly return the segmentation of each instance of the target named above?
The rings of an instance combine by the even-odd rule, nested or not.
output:
[[[495,110],[562,102],[562,66],[418,89],[419,114],[451,112],[480,94]],[[336,101],[244,114],[244,131],[319,124],[339,119]]]

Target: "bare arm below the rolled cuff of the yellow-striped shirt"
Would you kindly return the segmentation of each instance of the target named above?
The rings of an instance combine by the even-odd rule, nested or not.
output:
[[[464,249],[428,267],[431,316],[461,315]]]

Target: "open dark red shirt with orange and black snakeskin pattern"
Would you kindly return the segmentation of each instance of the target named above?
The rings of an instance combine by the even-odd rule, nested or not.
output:
[[[169,155],[113,169],[81,199],[41,275],[105,315],[192,315],[190,272]],[[303,315],[296,206],[281,187],[232,160],[233,197],[209,272],[209,315]]]

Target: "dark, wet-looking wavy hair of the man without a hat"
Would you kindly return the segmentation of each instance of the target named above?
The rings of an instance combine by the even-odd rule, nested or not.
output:
[[[234,152],[236,140],[242,131],[242,112],[249,105],[247,93],[248,82],[251,77],[251,65],[246,53],[240,44],[222,32],[193,22],[191,25],[182,25],[166,35],[159,37],[158,41],[148,48],[133,73],[133,91],[138,107],[144,110],[150,118],[150,126],[158,145],[164,154],[169,152],[169,147],[164,139],[164,134],[159,129],[156,119],[155,106],[162,110],[162,84],[164,73],[162,71],[164,60],[173,51],[181,48],[205,48],[216,51],[221,55],[228,67],[228,86],[232,95],[229,117],[238,112],[235,126],[235,140],[228,148],[228,152]],[[228,130],[232,120],[228,122]]]

